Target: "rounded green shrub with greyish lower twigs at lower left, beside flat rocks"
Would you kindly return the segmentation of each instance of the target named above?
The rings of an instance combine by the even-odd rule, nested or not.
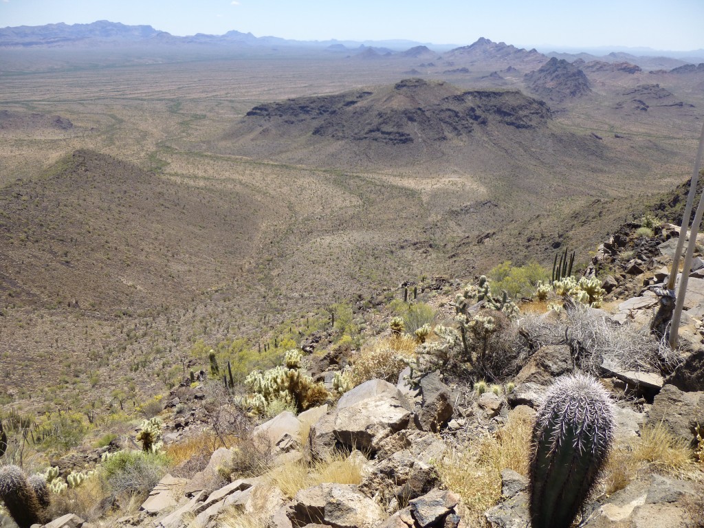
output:
[[[166,473],[168,458],[146,451],[118,451],[103,463],[102,477],[113,496],[146,496]]]

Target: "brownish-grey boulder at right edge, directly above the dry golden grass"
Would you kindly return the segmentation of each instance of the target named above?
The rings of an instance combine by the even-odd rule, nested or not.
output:
[[[665,385],[648,411],[648,425],[659,423],[689,444],[696,441],[697,424],[704,424],[704,392],[683,392]]]

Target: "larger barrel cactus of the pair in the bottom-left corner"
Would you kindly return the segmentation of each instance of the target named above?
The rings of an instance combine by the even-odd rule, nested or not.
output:
[[[20,528],[32,524],[44,524],[44,508],[27,479],[27,475],[16,465],[0,469],[0,499]]]

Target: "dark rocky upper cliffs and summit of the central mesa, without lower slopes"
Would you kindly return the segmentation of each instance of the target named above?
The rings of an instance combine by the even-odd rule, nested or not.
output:
[[[320,137],[407,144],[461,138],[489,122],[541,127],[550,110],[520,92],[460,92],[445,82],[409,79],[391,91],[358,90],[256,106],[246,118],[277,128],[306,128]]]

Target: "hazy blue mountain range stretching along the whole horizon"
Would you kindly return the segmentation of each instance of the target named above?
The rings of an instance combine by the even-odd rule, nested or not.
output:
[[[516,59],[528,61],[547,61],[555,57],[572,62],[582,59],[589,61],[605,61],[608,63],[624,62],[637,64],[648,69],[672,69],[688,63],[697,64],[704,62],[704,50],[689,52],[667,52],[643,49],[647,55],[636,56],[624,51],[612,51],[603,56],[579,52],[541,54],[535,49],[529,51],[516,48],[503,42],[492,42],[484,37],[470,46],[437,46],[429,43],[411,40],[382,40],[382,41],[340,41],[336,39],[325,41],[301,41],[282,39],[279,37],[256,37],[251,33],[236,30],[228,31],[222,35],[197,33],[187,37],[177,37],[165,31],[155,30],[151,25],[124,25],[121,23],[99,20],[90,24],[65,23],[48,24],[41,26],[4,27],[0,29],[0,48],[100,48],[115,46],[217,46],[239,48],[276,48],[276,47],[308,47],[324,49],[337,54],[359,54],[361,58],[379,58],[388,56],[402,56],[418,58],[425,56],[432,58],[434,54],[444,53],[445,58],[470,58],[481,60],[491,56],[494,59]],[[430,48],[428,47],[430,46]],[[603,49],[604,52],[608,49]],[[632,49],[639,52],[641,49]],[[598,51],[597,51],[598,52]]]

